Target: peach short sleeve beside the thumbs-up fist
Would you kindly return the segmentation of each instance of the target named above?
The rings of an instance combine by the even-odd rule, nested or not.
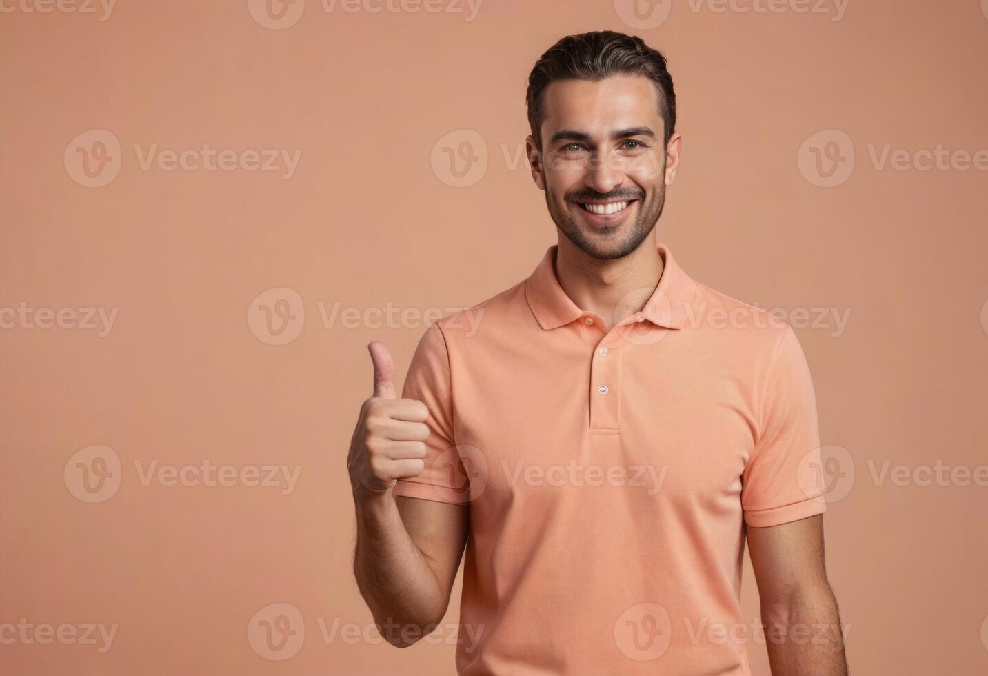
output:
[[[459,458],[453,441],[453,392],[446,338],[439,324],[422,335],[412,356],[401,391],[402,398],[418,399],[429,409],[426,425],[425,470],[418,476],[399,479],[394,495],[466,504],[467,486],[459,471]]]

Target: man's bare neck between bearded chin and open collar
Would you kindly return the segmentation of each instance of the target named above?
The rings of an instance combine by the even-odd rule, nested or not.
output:
[[[640,310],[662,277],[662,256],[650,233],[622,258],[591,258],[560,233],[555,275],[566,296],[585,312],[594,312],[610,330]]]

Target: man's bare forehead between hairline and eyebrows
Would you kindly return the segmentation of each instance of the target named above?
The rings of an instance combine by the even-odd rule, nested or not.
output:
[[[603,135],[641,125],[662,134],[658,88],[644,75],[617,75],[597,82],[555,80],[542,96],[541,131],[546,138],[559,129]]]

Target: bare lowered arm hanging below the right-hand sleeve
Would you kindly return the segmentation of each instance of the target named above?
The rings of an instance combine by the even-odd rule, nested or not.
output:
[[[837,599],[824,565],[823,516],[748,528],[772,673],[847,676]]]

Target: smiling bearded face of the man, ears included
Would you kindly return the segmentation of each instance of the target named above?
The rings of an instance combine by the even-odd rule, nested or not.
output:
[[[655,227],[679,161],[667,156],[659,92],[644,76],[557,80],[542,93],[542,152],[529,159],[552,220],[588,256],[620,258]]]

